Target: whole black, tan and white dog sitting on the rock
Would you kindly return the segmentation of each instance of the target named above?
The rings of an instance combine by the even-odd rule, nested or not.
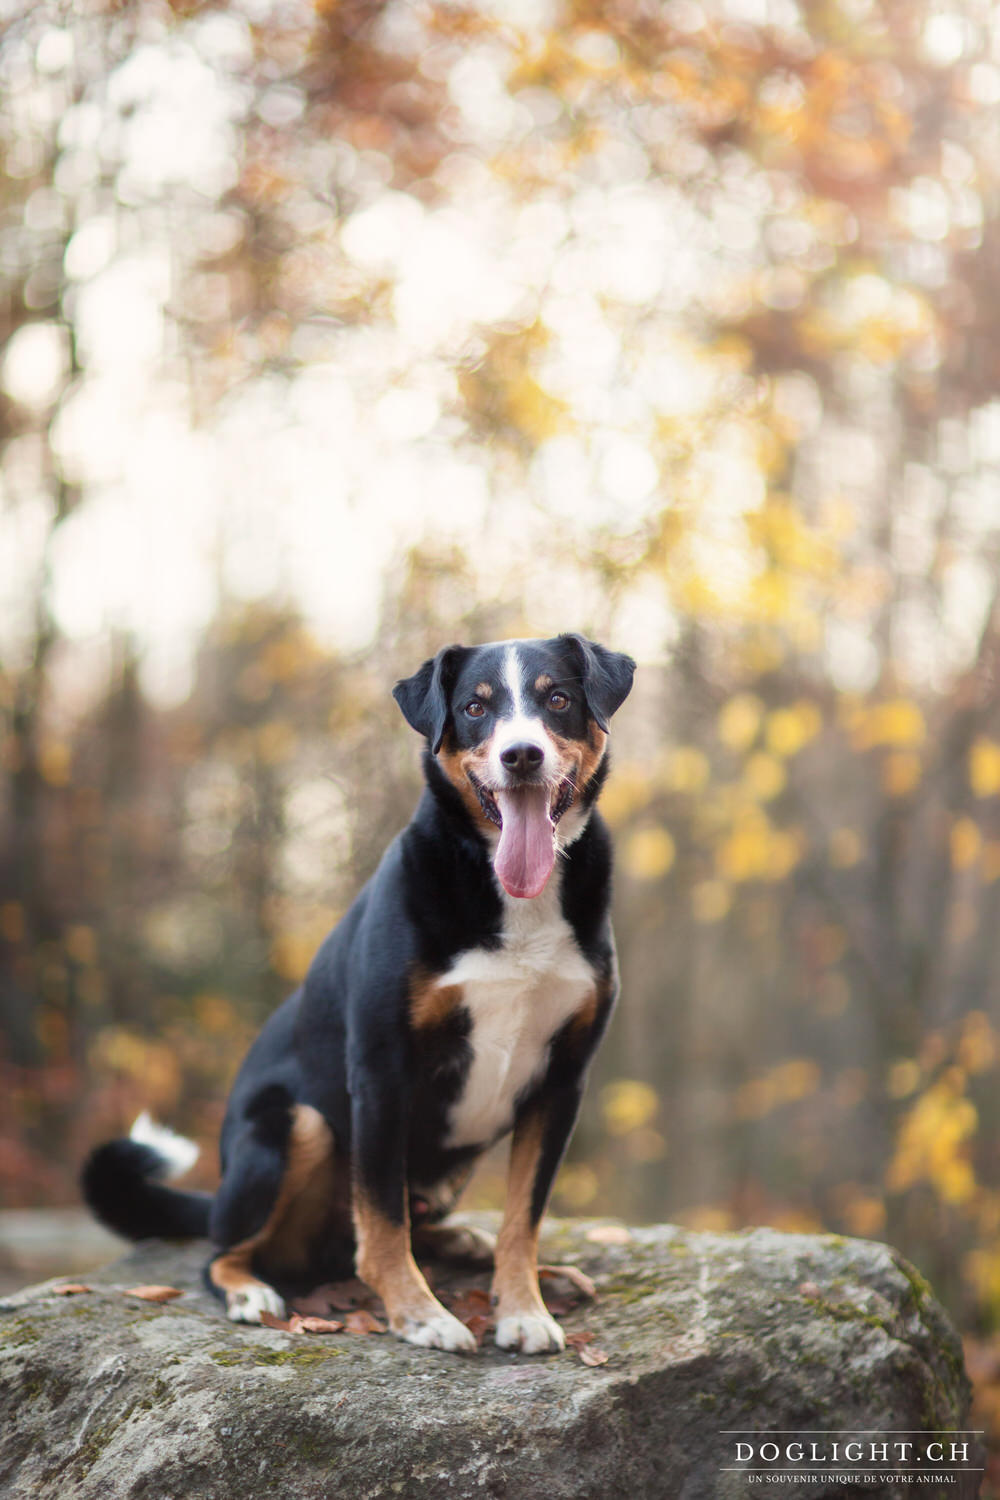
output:
[[[634,663],[582,636],[447,646],[397,682],[427,786],[303,987],[232,1088],[214,1197],[163,1186],[187,1143],[142,1116],[84,1168],[130,1239],[210,1234],[229,1317],[357,1270],[412,1344],[472,1335],[414,1260],[493,1251],[441,1224],[513,1131],[495,1246],[496,1342],[562,1348],[538,1293],[538,1224],[618,990],[610,843],[594,810]]]

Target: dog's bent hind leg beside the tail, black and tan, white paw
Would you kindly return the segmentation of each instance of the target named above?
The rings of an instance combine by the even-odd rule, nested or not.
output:
[[[222,1250],[208,1281],[235,1323],[285,1317],[282,1296],[256,1270],[301,1269],[331,1198],[330,1126],[312,1106],[274,1092],[249,1112],[213,1204],[211,1238]]]

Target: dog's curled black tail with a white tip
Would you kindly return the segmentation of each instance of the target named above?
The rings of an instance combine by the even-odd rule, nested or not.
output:
[[[127,1138],[109,1140],[84,1162],[81,1186],[90,1210],[126,1239],[195,1239],[208,1233],[210,1192],[163,1186],[193,1167],[192,1140],[144,1112]]]

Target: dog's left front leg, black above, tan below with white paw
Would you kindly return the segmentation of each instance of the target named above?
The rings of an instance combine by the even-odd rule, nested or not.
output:
[[[370,1077],[355,1083],[351,1130],[358,1276],[381,1296],[397,1338],[475,1353],[475,1338],[438,1302],[411,1251],[405,1090]]]

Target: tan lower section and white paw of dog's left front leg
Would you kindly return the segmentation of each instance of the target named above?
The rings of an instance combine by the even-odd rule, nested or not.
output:
[[[424,1281],[409,1245],[409,1216],[393,1224],[355,1186],[354,1226],[358,1276],[381,1296],[393,1334],[412,1344],[472,1353],[475,1340],[444,1308]]]

